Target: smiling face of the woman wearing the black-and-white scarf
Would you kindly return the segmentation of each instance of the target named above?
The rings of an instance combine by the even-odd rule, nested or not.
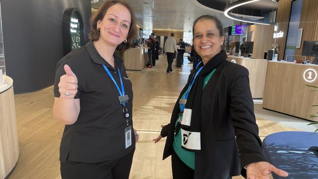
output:
[[[194,25],[193,44],[196,52],[201,56],[206,64],[216,54],[220,53],[224,36],[220,37],[220,32],[216,23],[212,20],[200,20]]]

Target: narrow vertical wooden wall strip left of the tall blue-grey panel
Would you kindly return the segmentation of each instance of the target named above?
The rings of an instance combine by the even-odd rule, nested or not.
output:
[[[291,6],[292,6],[292,0],[279,0],[278,2],[276,22],[279,24],[278,24],[277,31],[284,32],[284,36],[282,38],[276,39],[276,44],[278,45],[278,49],[279,49],[278,59],[284,58],[284,51],[285,51],[285,45],[286,45],[288,22],[289,22],[289,16],[291,12]]]

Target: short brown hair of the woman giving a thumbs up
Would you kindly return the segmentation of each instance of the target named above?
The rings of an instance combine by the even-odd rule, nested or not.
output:
[[[102,21],[104,19],[104,16],[106,15],[107,10],[117,3],[125,6],[129,10],[131,16],[131,23],[127,35],[127,42],[122,42],[118,45],[121,48],[120,51],[125,51],[130,47],[134,39],[134,35],[136,33],[136,17],[133,8],[124,0],[107,0],[99,7],[97,12],[91,17],[91,31],[89,34],[89,38],[92,41],[98,41],[100,33],[97,30],[97,22],[99,20]]]

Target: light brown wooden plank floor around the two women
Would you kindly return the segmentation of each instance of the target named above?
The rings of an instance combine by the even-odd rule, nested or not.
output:
[[[160,125],[170,121],[173,106],[187,81],[192,65],[165,74],[167,62],[160,56],[156,67],[128,71],[134,90],[134,127],[139,141],[130,179],[172,179],[170,158],[162,160],[165,139],[154,144]],[[64,126],[52,114],[52,87],[15,95],[20,157],[10,179],[60,179],[59,145]],[[295,130],[266,119],[257,119],[260,136]],[[241,179],[235,177],[234,179]]]

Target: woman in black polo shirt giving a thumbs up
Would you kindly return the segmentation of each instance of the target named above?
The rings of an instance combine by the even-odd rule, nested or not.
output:
[[[91,42],[57,64],[53,114],[65,124],[62,179],[128,179],[135,152],[133,90],[117,45],[136,32],[132,7],[107,0],[91,18]]]

